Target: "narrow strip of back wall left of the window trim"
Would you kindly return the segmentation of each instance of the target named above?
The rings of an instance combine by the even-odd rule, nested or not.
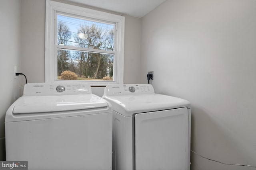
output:
[[[30,82],[45,82],[45,0],[22,0],[22,72]]]

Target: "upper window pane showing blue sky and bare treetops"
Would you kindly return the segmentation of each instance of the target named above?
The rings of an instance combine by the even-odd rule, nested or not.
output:
[[[57,43],[89,49],[114,50],[114,25],[57,15]]]

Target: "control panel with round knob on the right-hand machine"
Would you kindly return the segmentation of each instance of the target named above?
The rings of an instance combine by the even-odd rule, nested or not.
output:
[[[150,94],[154,93],[151,84],[111,84],[104,90],[104,96]]]

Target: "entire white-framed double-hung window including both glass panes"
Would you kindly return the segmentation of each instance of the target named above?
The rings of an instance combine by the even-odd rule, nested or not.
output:
[[[124,17],[46,0],[46,82],[123,83]]]

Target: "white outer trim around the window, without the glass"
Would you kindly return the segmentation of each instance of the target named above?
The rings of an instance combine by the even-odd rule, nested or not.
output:
[[[114,71],[116,73],[115,81],[85,81],[92,86],[102,86],[106,84],[123,84],[124,82],[124,17],[79,6],[63,4],[51,0],[46,0],[46,27],[45,27],[45,82],[74,82],[73,80],[55,80],[55,66],[54,59],[54,36],[55,36],[55,14],[56,12],[65,12],[78,16],[94,18],[116,23],[116,51],[114,60]],[[55,45],[58,46],[58,45]],[[75,82],[79,82],[76,80]]]

